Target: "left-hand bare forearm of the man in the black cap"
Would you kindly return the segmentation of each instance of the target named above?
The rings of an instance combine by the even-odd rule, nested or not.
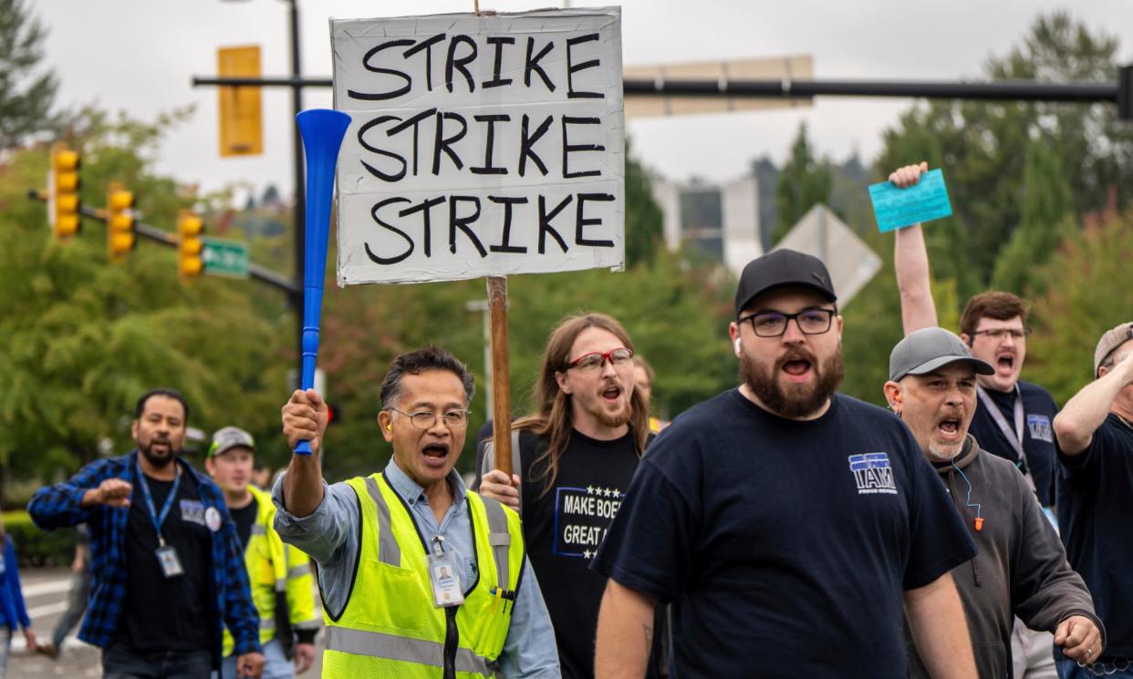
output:
[[[641,679],[653,648],[653,600],[636,590],[606,581],[598,609],[594,655],[595,679]]]

